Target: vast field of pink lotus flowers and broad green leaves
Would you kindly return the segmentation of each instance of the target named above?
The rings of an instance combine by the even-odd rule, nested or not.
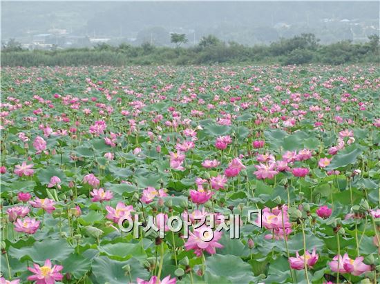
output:
[[[378,66],[1,75],[0,283],[379,281]]]

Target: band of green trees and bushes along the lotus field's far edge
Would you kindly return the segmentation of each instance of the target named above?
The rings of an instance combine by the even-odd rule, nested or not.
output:
[[[66,50],[22,50],[19,45],[3,46],[2,66],[38,65],[202,65],[214,63],[252,64],[281,63],[379,63],[379,36],[369,37],[367,43],[340,41],[321,45],[314,34],[301,34],[281,39],[270,45],[248,47],[235,42],[225,43],[209,35],[191,48],[156,47],[149,43],[134,47],[99,44],[94,48]]]

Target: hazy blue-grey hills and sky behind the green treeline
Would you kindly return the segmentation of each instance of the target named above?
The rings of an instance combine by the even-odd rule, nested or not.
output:
[[[186,33],[189,44],[206,34],[252,45],[302,32],[330,43],[379,34],[379,2],[1,2],[3,39],[28,41],[55,28],[140,44],[153,27]]]

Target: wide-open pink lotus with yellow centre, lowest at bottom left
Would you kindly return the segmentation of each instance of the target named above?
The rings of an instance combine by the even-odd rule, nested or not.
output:
[[[61,281],[64,276],[59,273],[64,269],[62,265],[54,265],[50,259],[46,259],[44,266],[40,267],[38,264],[33,264],[34,268],[28,267],[28,270],[35,275],[28,276],[28,280],[36,281],[36,284],[54,284],[55,281]]]

